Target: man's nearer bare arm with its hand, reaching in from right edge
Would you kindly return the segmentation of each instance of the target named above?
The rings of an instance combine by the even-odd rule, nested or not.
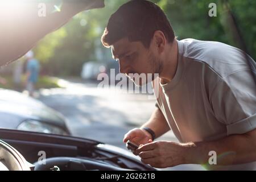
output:
[[[216,152],[217,165],[254,162],[256,161],[256,129],[212,142],[157,141],[144,144],[136,150],[143,163],[157,168],[173,167],[179,164],[208,164],[210,151]]]

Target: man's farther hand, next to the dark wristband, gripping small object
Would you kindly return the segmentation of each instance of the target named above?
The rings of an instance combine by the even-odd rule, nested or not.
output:
[[[131,140],[131,142],[137,144],[138,146],[141,144],[147,144],[152,142],[151,135],[142,129],[135,128],[130,130],[128,133],[125,134],[123,138],[123,142],[127,142],[127,140]],[[129,148],[130,149],[130,148]],[[133,151],[134,155],[138,155],[137,152]]]

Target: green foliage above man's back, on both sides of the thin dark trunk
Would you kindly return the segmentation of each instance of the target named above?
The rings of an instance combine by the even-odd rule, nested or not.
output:
[[[178,39],[212,40],[239,47],[229,26],[224,0],[159,0],[158,5],[167,14]],[[208,16],[209,3],[216,3],[217,17]],[[256,57],[256,1],[228,1],[237,19],[247,49]]]

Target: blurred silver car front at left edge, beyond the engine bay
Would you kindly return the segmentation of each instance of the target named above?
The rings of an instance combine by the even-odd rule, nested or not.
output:
[[[63,115],[22,93],[0,89],[0,128],[70,135]]]

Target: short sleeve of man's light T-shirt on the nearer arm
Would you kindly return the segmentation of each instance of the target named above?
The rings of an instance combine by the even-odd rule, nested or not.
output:
[[[256,85],[250,69],[236,71],[217,82],[210,97],[215,117],[227,134],[243,134],[256,128]]]

